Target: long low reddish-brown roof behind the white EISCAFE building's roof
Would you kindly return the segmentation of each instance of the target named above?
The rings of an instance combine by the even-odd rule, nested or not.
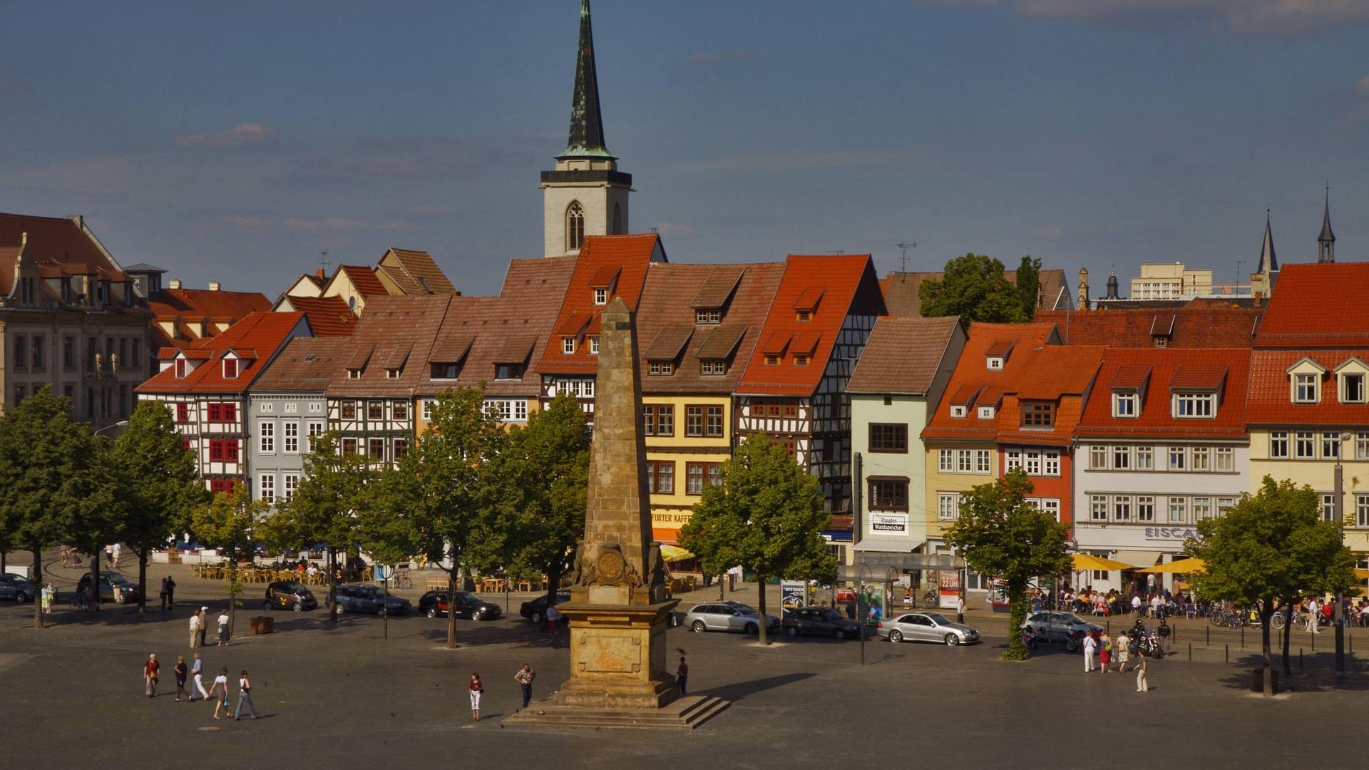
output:
[[[1066,345],[1154,348],[1155,334],[1165,333],[1169,348],[1249,348],[1264,312],[1258,307],[1192,300],[1175,310],[1038,310],[1036,321],[1058,326]]]

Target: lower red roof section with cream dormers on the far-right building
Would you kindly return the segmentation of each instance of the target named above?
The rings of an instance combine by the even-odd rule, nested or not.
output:
[[[1283,289],[1283,278],[1275,292]],[[1369,404],[1342,404],[1336,367],[1346,359],[1364,356],[1364,348],[1329,349],[1255,349],[1250,356],[1250,396],[1246,406],[1249,425],[1344,425],[1369,426]],[[1327,369],[1321,377],[1321,401],[1292,403],[1288,367],[1303,358]]]

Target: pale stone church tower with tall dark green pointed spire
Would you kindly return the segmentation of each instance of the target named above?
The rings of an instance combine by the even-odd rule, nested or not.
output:
[[[556,169],[542,171],[538,186],[542,190],[543,256],[579,253],[585,236],[627,233],[632,175],[619,171],[617,158],[604,147],[589,0],[580,0],[570,138],[556,156]]]

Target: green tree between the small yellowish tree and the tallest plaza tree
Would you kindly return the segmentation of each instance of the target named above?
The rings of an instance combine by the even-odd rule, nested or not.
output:
[[[378,469],[357,452],[338,451],[338,434],[329,432],[309,441],[303,458],[304,474],[294,496],[279,501],[261,522],[260,538],[272,548],[303,551],[327,547],[327,606],[337,607],[338,549],[360,543],[357,511]],[[337,622],[337,612],[330,612]]]

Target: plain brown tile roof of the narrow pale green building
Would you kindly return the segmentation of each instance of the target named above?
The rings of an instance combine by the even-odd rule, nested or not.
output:
[[[932,386],[960,319],[894,318],[875,322],[865,352],[846,385],[847,393],[923,395]]]

